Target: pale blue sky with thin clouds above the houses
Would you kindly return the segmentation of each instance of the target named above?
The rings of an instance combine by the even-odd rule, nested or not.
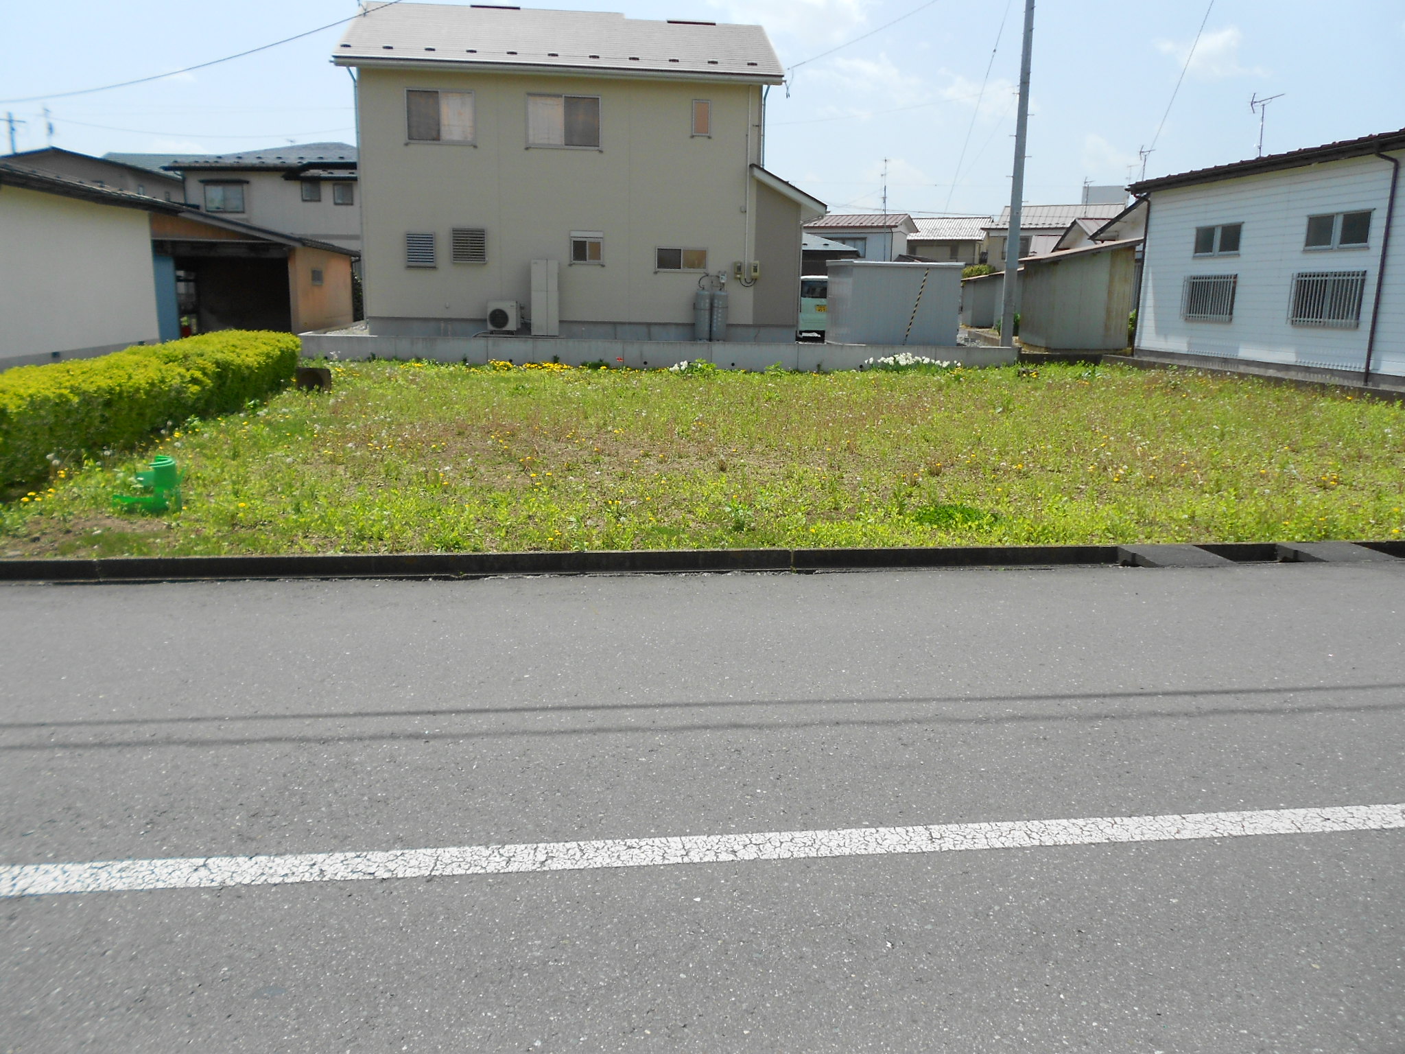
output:
[[[920,4],[558,0],[551,6],[635,18],[760,22],[781,60],[794,66]],[[1402,0],[1215,0],[1156,138],[1205,6],[1207,0],[1040,3],[1027,202],[1076,201],[1085,178],[1125,183],[1139,171],[1138,149],[1154,138],[1148,176],[1252,157],[1259,132],[1249,111],[1252,93],[1284,93],[1269,108],[1266,152],[1405,126]],[[6,15],[0,98],[160,73],[354,10],[348,0],[25,4]],[[799,66],[788,97],[785,89],[770,93],[767,167],[833,211],[860,211],[878,208],[887,157],[892,211],[999,211],[1009,200],[1021,13],[1023,0],[936,0],[888,30]],[[104,153],[350,142],[351,83],[327,60],[339,35],[340,30],[327,30],[152,84],[53,98],[48,104],[53,143]],[[21,150],[45,145],[42,107],[42,101],[0,101],[0,112],[13,111],[27,122],[18,132]]]

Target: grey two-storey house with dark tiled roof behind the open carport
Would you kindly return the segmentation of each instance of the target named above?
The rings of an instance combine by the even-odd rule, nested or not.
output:
[[[105,160],[176,173],[185,204],[211,215],[361,250],[357,148],[348,143],[222,155],[110,153]]]

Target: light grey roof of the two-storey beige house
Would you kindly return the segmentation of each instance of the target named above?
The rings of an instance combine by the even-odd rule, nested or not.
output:
[[[785,76],[760,25],[479,4],[370,7],[347,27],[332,59],[340,66],[610,70],[770,84]]]

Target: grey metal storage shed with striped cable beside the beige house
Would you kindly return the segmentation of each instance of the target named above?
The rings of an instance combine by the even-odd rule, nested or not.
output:
[[[961,263],[829,261],[829,344],[957,343]]]

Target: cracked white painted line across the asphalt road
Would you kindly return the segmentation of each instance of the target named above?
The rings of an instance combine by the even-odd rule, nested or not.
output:
[[[1309,835],[1405,828],[1405,804],[1309,809],[1196,812],[1184,816],[1093,816],[910,828],[777,831],[759,835],[618,838],[511,846],[396,849],[365,853],[211,856],[177,860],[103,860],[81,864],[0,867],[0,898],[118,890],[192,890],[357,878],[427,878],[517,871],[582,871],[604,867],[715,864],[739,860],[805,860],[961,849],[1030,849],[1111,842],[1173,842],[1249,835]]]

